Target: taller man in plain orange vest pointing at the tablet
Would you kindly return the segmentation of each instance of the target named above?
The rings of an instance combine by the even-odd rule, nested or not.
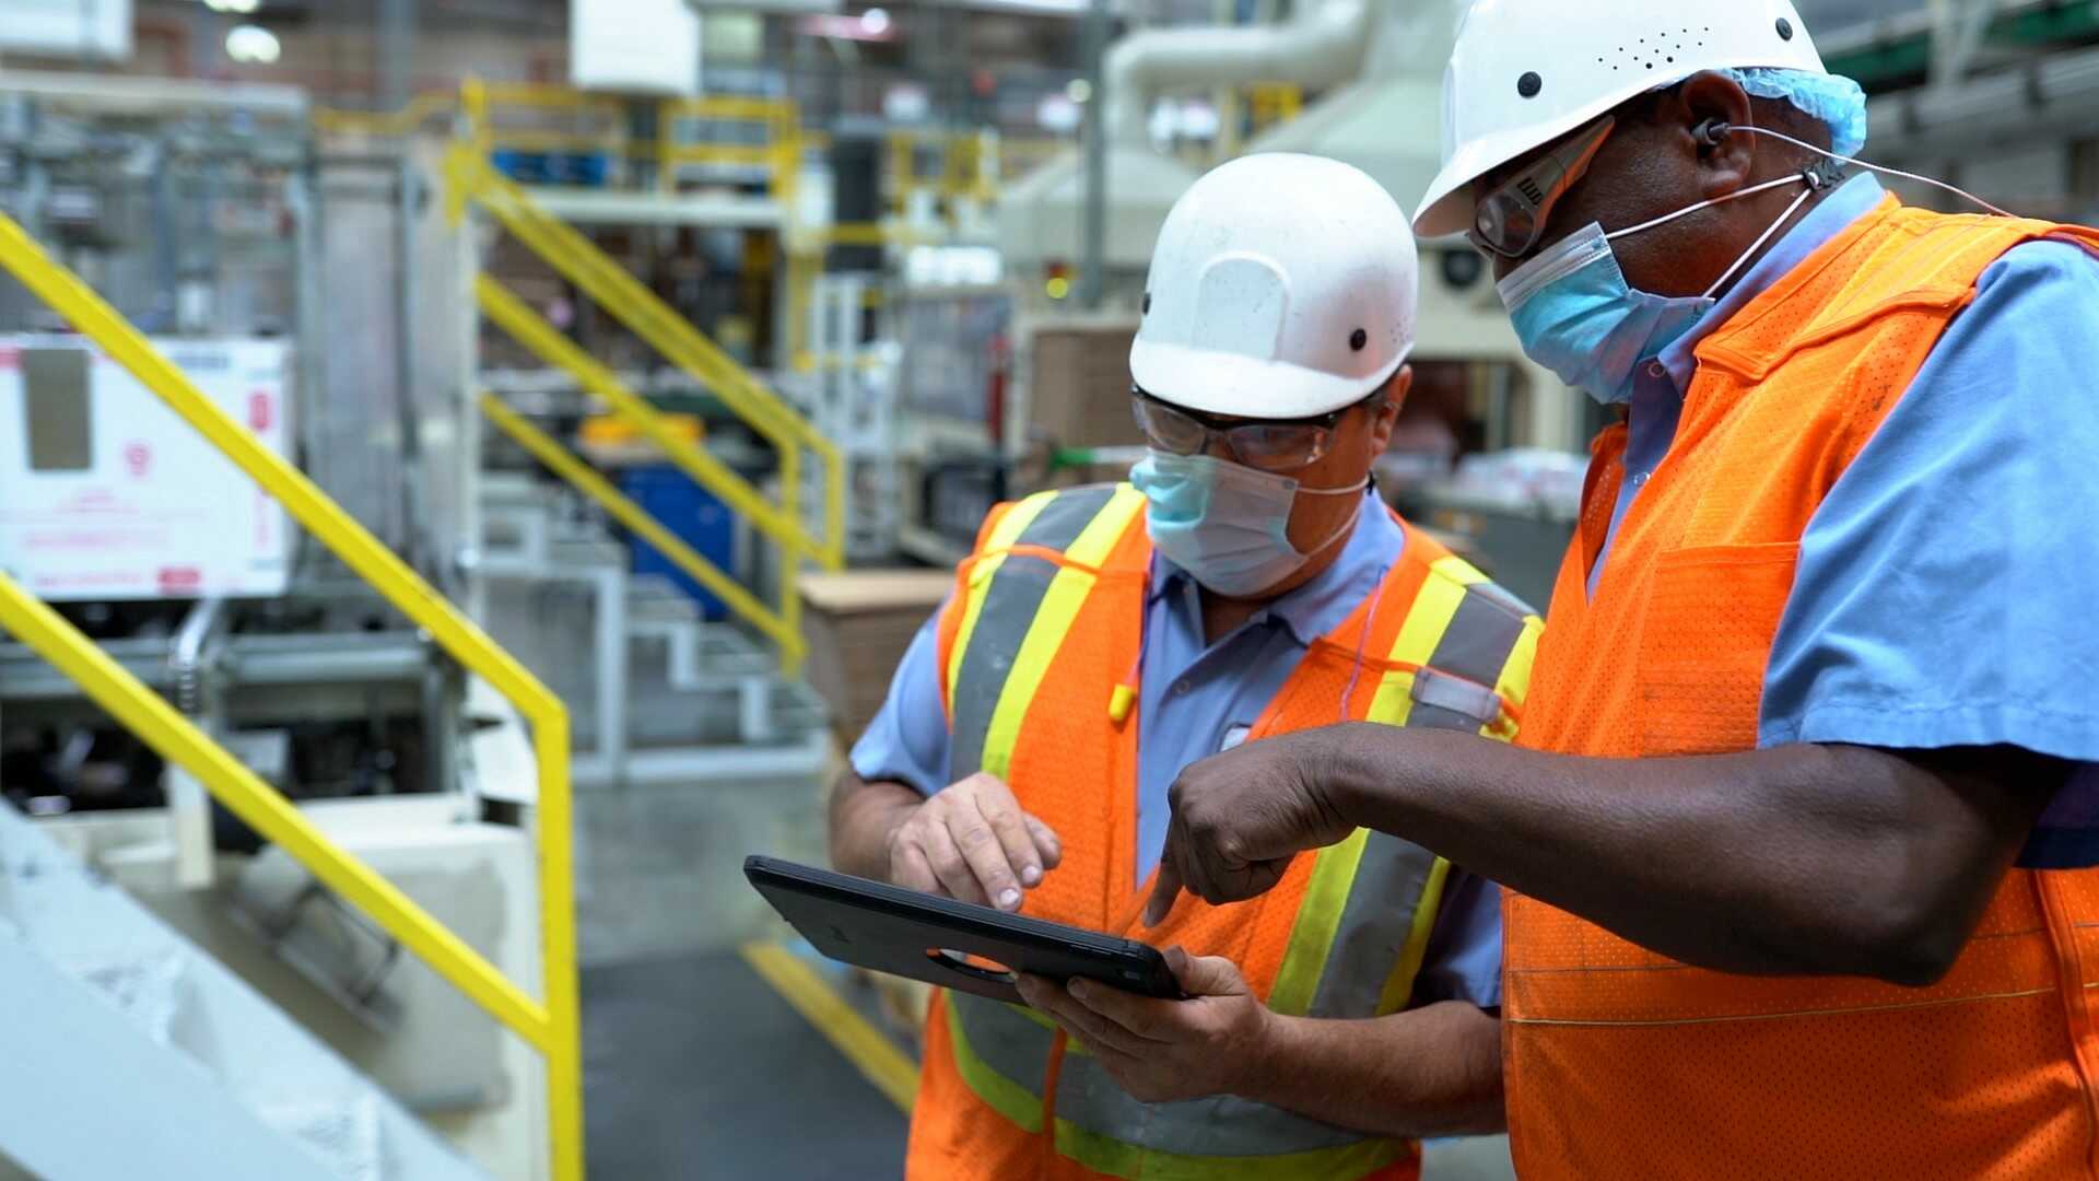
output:
[[[1522,748],[1201,763],[1157,902],[1505,883],[1524,1177],[2093,1177],[2099,231],[1887,195],[1782,0],[1482,0],[1444,118],[1417,231],[1618,410]]]

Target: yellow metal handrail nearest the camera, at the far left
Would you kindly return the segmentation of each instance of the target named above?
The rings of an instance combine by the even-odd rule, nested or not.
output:
[[[315,878],[367,912],[388,935],[546,1057],[554,1177],[556,1181],[577,1181],[584,1173],[584,1080],[575,979],[567,708],[523,664],[395,557],[384,542],[330,500],[319,485],[218,410],[136,328],[78,275],[44,254],[36,240],[4,214],[0,214],[0,267],[6,267],[36,298],[63,315],[264,492],[283,502],[292,519],[334,551],[401,614],[422,626],[453,660],[508,698],[531,723],[539,765],[542,1000],[533,1000],[386,878],[336,847],[290,801],[109,660],[57,612],[0,576],[0,624],[65,672],[147,746],[195,775],[235,815],[281,845]]]

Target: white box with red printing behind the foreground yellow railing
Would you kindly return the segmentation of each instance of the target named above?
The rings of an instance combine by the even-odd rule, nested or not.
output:
[[[279,456],[292,347],[155,340]],[[0,338],[0,565],[48,601],[281,595],[292,521],[115,361],[69,336]]]

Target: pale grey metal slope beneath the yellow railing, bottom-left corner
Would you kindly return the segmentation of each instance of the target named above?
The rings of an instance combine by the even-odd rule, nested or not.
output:
[[[483,1177],[4,803],[0,1004],[17,1015],[0,1055],[0,1154],[29,1177]],[[0,1177],[8,1168],[0,1160]]]

